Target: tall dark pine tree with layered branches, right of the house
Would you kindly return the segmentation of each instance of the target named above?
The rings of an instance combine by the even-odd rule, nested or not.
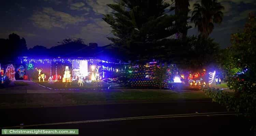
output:
[[[128,53],[128,60],[165,56],[162,48],[167,44],[160,44],[161,40],[180,30],[177,16],[167,14],[174,9],[164,0],[120,0],[108,6],[114,10],[103,17],[113,29],[114,37],[108,39]]]

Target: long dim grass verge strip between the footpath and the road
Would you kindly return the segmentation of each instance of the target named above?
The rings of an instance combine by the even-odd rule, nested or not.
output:
[[[1,94],[0,108],[85,105],[109,100],[147,100],[148,102],[209,98],[203,92],[83,92],[48,94]]]

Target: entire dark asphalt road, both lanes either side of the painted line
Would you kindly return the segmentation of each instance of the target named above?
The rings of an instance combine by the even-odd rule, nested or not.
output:
[[[155,115],[227,112],[210,101],[0,109],[0,127]],[[24,128],[79,129],[81,135],[250,135],[250,125],[234,115],[117,120]]]

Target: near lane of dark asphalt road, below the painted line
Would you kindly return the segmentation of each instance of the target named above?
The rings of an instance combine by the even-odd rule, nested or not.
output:
[[[165,119],[141,119],[128,121],[93,122],[82,124],[30,127],[37,129],[79,129],[86,135],[140,135],[140,136],[250,136],[247,122],[236,116],[183,117]]]

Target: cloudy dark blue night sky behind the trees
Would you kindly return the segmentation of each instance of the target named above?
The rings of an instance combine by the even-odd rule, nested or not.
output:
[[[65,38],[82,38],[85,44],[111,43],[106,36],[111,28],[101,18],[112,10],[106,6],[114,0],[1,0],[0,38],[11,33],[24,37],[27,47],[42,45],[51,48]],[[167,0],[168,2],[169,0]],[[210,37],[221,48],[230,46],[230,34],[241,30],[248,13],[256,9],[256,0],[219,0],[225,6],[224,21],[215,24]],[[190,9],[195,0],[190,2]],[[191,13],[190,13],[191,14]],[[190,23],[194,27],[193,23]],[[192,28],[189,35],[198,34]],[[111,34],[110,34],[111,36]]]

